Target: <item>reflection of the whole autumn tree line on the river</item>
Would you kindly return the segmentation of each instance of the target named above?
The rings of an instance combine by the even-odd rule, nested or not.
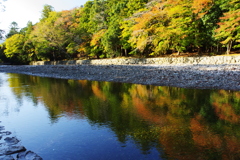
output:
[[[8,81],[20,102],[44,104],[53,124],[87,119],[123,144],[133,140],[143,154],[157,148],[166,159],[240,158],[240,92],[18,74]]]

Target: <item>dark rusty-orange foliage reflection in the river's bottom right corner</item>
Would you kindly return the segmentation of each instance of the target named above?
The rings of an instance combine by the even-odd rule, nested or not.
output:
[[[199,152],[204,153],[206,150],[218,152],[220,159],[239,159],[240,142],[239,138],[227,133],[221,135],[215,133],[201,116],[191,119],[190,129],[195,145],[198,146]]]

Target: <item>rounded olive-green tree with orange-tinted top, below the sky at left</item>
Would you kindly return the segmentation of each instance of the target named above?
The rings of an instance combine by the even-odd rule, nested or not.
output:
[[[78,33],[79,11],[49,13],[48,18],[34,26],[30,39],[41,58],[50,60],[71,59],[77,52],[81,38]]]

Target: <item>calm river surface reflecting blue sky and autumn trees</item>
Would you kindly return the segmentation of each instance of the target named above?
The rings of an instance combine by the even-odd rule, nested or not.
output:
[[[46,160],[240,158],[240,92],[0,73],[0,121]]]

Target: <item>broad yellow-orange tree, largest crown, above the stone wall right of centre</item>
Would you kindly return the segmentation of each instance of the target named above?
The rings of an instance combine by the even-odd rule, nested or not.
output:
[[[207,13],[205,9],[211,8],[211,0],[156,0],[146,6],[129,18],[126,24],[130,27],[124,28],[125,37],[131,33],[129,42],[135,53],[156,56],[202,46],[201,18]]]

